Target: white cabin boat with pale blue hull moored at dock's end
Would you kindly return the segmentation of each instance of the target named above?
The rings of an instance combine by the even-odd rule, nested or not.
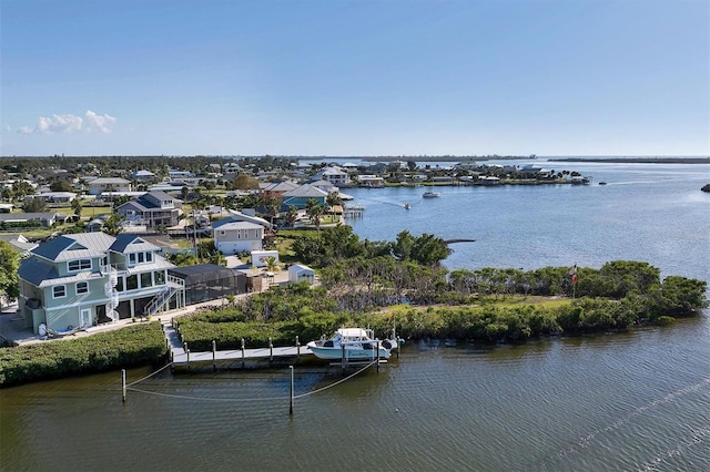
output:
[[[377,345],[379,343],[379,351]],[[374,339],[371,329],[341,328],[331,339],[311,341],[306,347],[318,359],[327,360],[375,360],[388,359],[395,341]]]

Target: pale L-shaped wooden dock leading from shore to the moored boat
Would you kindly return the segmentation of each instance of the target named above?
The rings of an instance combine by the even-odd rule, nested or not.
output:
[[[168,341],[168,349],[170,351],[170,358],[173,368],[186,368],[191,367],[209,367],[216,368],[217,363],[237,363],[241,362],[242,367],[246,366],[246,362],[258,361],[284,361],[294,359],[300,361],[302,359],[315,359],[315,356],[305,346],[287,346],[287,347],[266,347],[257,349],[229,349],[216,350],[213,343],[212,351],[191,352],[190,347],[185,349],[185,345],[180,340],[180,335],[175,328],[171,325],[163,325],[163,331]]]

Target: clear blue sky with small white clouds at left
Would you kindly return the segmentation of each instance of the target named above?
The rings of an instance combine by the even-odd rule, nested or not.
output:
[[[709,155],[707,0],[0,0],[1,154]]]

